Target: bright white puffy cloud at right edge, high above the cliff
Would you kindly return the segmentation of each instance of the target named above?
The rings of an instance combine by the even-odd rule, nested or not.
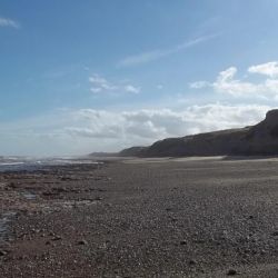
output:
[[[235,67],[230,67],[227,70],[219,72],[215,82],[197,81],[190,83],[189,86],[192,89],[212,88],[216,92],[227,93],[234,97],[259,97],[265,99],[277,99],[278,76],[277,79],[275,79],[276,67],[274,67],[274,64],[275,62],[269,62],[265,64],[252,66],[248,69],[250,73],[261,73],[269,76],[269,78],[260,82],[250,82],[236,79],[238,70]]]

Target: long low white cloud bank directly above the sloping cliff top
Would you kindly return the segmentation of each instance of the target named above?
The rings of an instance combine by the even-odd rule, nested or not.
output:
[[[145,127],[149,127],[149,133],[153,135],[157,132],[157,139],[161,139],[192,132],[242,127],[242,123],[252,125],[261,119],[268,109],[269,107],[266,106],[227,106],[216,103],[192,106],[183,111],[170,109],[138,110],[123,112],[122,117],[129,126],[133,127],[133,130],[135,127],[140,130],[142,125],[145,125]]]

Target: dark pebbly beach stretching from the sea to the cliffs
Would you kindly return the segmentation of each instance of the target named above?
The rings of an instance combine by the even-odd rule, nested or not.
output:
[[[278,160],[0,173],[0,277],[278,277]]]

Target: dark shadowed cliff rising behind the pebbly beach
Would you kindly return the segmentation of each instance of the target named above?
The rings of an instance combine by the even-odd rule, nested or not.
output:
[[[278,110],[252,127],[169,138],[132,150],[139,157],[278,155]]]

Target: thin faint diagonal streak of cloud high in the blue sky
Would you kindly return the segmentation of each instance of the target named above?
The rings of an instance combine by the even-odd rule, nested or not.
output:
[[[203,36],[203,37],[199,37],[197,39],[190,40],[190,41],[186,41],[186,42],[180,43],[178,46],[171,47],[169,49],[156,49],[156,50],[142,52],[139,54],[129,56],[129,57],[126,57],[125,59],[122,59],[121,61],[119,61],[118,66],[119,67],[132,67],[132,66],[137,66],[137,64],[141,64],[141,63],[151,62],[155,60],[159,60],[163,57],[177,53],[179,51],[195,47],[197,44],[200,44],[200,43],[206,42],[208,40],[215,39],[217,37],[219,37],[219,34]]]

